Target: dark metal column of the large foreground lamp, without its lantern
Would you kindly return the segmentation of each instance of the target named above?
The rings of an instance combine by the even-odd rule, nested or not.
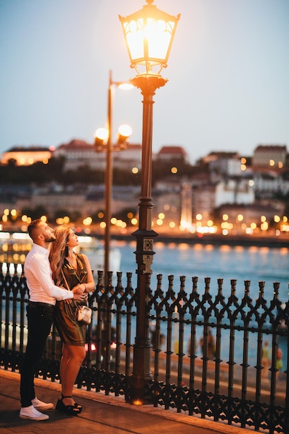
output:
[[[146,318],[146,290],[153,251],[153,239],[157,233],[152,230],[152,105],[158,87],[166,84],[161,76],[137,76],[131,83],[141,89],[143,95],[143,135],[141,153],[141,197],[139,202],[139,229],[132,235],[137,239],[137,333],[134,343],[133,372],[131,376],[130,401],[135,405],[145,400],[145,385],[150,380],[150,338]]]

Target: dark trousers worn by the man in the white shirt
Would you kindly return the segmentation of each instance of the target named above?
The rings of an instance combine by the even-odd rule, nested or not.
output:
[[[27,306],[28,340],[26,354],[21,365],[20,396],[21,407],[32,405],[35,398],[34,376],[42,358],[46,339],[51,331],[54,306],[29,302]]]

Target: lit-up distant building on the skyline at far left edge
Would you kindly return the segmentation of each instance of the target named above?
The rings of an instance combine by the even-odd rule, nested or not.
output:
[[[47,164],[51,158],[52,150],[41,146],[15,146],[1,156],[1,164],[14,161],[17,166],[30,166],[37,162]]]

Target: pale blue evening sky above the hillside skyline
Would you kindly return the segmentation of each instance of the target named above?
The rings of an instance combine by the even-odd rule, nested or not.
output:
[[[109,71],[130,69],[119,15],[145,0],[0,0],[0,153],[12,146],[93,143],[105,126]],[[165,87],[155,94],[153,150],[183,146],[191,163],[216,151],[289,146],[289,1],[155,0],[181,14]],[[114,95],[114,134],[141,143],[139,89]]]

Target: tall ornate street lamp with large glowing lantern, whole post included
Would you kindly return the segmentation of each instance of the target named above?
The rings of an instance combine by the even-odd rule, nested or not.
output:
[[[153,239],[152,230],[152,105],[156,89],[166,84],[160,75],[167,66],[170,47],[180,15],[174,17],[146,0],[141,10],[128,17],[121,17],[121,25],[128,46],[131,67],[137,76],[130,82],[141,89],[143,95],[143,136],[141,154],[141,197],[139,202],[139,229],[134,232],[137,239],[137,333],[134,343],[134,361],[131,377],[130,401],[142,404],[145,386],[150,381],[150,338],[146,318],[146,288],[148,275],[152,273]],[[143,70],[143,71],[141,71]],[[157,70],[155,72],[154,70]]]

